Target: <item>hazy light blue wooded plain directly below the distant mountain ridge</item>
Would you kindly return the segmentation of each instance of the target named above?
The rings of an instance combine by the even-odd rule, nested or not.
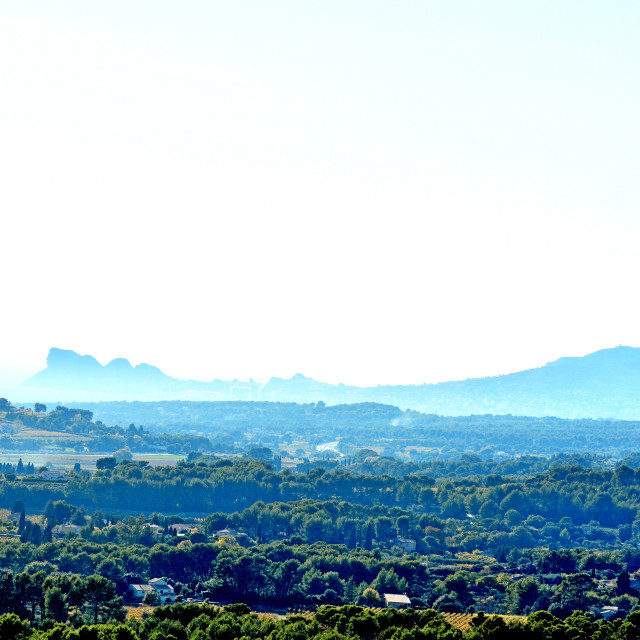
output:
[[[327,443],[335,447],[323,446]],[[326,406],[322,402],[102,402],[47,411],[41,403],[14,407],[0,398],[0,450],[7,452],[187,455],[196,451],[240,456],[256,448],[268,449],[269,459],[280,458],[290,468],[318,460],[348,466],[370,456],[392,459],[395,465],[417,465],[393,475],[437,473],[431,469],[463,456],[487,465],[520,464],[531,456],[544,465],[558,455],[598,452],[601,460],[594,463],[604,465],[640,451],[640,422],[445,417],[374,403]],[[388,460],[386,464],[391,466]]]

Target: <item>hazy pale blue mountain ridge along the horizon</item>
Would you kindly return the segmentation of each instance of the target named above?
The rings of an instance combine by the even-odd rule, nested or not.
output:
[[[180,380],[148,364],[117,358],[101,365],[92,356],[51,349],[47,368],[23,386],[109,394],[123,400],[263,400],[342,404],[378,402],[441,415],[513,414],[565,418],[640,419],[640,349],[615,347],[563,357],[508,375],[421,385],[355,387],[318,382],[301,374],[254,381]],[[69,397],[73,400],[73,397]],[[105,399],[107,399],[105,397]]]

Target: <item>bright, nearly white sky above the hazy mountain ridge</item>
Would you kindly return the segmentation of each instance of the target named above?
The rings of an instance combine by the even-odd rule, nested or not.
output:
[[[0,378],[420,384],[640,347],[640,4],[0,6]]]

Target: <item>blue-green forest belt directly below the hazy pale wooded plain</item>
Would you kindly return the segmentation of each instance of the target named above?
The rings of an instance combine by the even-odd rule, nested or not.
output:
[[[524,520],[541,516],[557,521],[569,517],[575,525],[595,521],[619,527],[634,521],[638,508],[637,470],[557,466],[531,476],[488,474],[480,478],[427,475],[367,475],[344,467],[316,467],[306,473],[276,471],[270,463],[251,458],[199,456],[175,466],[150,466],[122,461],[112,468],[68,472],[66,482],[29,482],[5,478],[0,500],[44,507],[64,499],[90,509],[126,509],[138,513],[208,511],[233,512],[255,502],[290,502],[308,498],[356,502],[435,512],[445,518],[495,516],[515,510]],[[437,486],[436,486],[437,484]],[[480,519],[481,521],[481,519]]]

